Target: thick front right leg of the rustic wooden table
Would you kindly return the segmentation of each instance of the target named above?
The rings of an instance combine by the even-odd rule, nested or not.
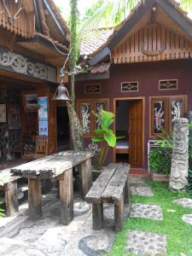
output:
[[[67,225],[73,219],[73,169],[59,177],[61,199],[61,224]]]

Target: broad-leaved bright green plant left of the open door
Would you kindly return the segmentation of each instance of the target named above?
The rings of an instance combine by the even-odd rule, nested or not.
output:
[[[100,125],[100,128],[95,130],[94,137],[91,138],[94,143],[101,143],[101,151],[99,155],[99,169],[102,168],[106,157],[108,155],[108,149],[116,146],[116,141],[122,137],[116,137],[110,126],[114,122],[114,114],[105,110],[101,110],[100,113],[92,112]]]

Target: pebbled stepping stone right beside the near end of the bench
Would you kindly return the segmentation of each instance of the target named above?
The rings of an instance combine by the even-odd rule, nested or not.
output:
[[[163,220],[163,213],[160,206],[133,203],[131,205],[131,218],[150,218]]]

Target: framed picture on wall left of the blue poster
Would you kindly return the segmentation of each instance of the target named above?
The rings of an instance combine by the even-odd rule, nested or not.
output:
[[[38,94],[35,91],[22,91],[22,98],[26,112],[38,111]]]

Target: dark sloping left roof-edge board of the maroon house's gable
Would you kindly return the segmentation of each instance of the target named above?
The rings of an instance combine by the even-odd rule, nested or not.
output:
[[[114,49],[115,46],[119,44],[119,42],[125,38],[125,36],[131,31],[132,27],[135,26],[143,15],[145,15],[148,10],[153,7],[156,0],[148,0],[146,3],[143,3],[137,8],[137,12],[131,16],[129,20],[126,21],[126,24],[122,26],[119,32],[111,39],[108,44],[108,47],[102,49],[99,53],[97,53],[88,63],[90,66],[94,66],[100,61],[102,61],[107,55],[111,53],[111,50]]]

